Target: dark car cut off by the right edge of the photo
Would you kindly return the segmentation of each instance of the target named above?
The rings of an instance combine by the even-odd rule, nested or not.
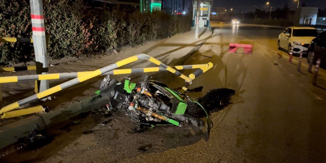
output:
[[[326,67],[326,32],[321,32],[314,38],[308,48],[307,61],[310,62],[312,52],[315,52],[313,64],[316,64],[317,59],[321,59],[320,67]]]

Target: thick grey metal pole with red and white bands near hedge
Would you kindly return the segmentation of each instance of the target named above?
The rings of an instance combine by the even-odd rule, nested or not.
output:
[[[30,0],[33,44],[36,61],[36,74],[47,74],[48,71],[48,55],[45,37],[43,2],[42,0]],[[37,81],[38,92],[49,89],[49,81]]]

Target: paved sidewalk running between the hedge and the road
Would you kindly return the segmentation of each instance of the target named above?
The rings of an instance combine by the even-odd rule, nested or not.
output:
[[[62,73],[92,71],[140,53],[145,53],[155,57],[156,59],[170,66],[182,65],[209,37],[211,37],[211,35],[212,32],[209,32],[207,28],[201,28],[200,39],[195,39],[194,29],[192,29],[184,34],[149,42],[143,46],[135,48],[125,47],[120,53],[98,55],[92,59],[88,58],[75,62],[59,64],[56,66],[49,66],[49,72]],[[141,68],[151,66],[154,66],[151,62],[138,61],[121,68]],[[1,73],[0,76],[20,76],[33,74],[35,74],[35,71],[17,71]],[[129,75],[130,74],[115,75],[113,77],[118,80],[122,80],[125,76]],[[141,76],[144,75],[141,74]],[[67,118],[81,112],[87,112],[100,106],[104,106],[108,102],[107,97],[98,98],[93,96],[94,92],[98,90],[98,86],[103,78],[104,76],[95,77],[55,93],[55,99],[36,101],[35,103],[31,104],[31,106],[47,106],[52,112],[45,114],[30,114],[10,119],[0,119],[0,139],[7,140],[0,143],[0,148],[14,143],[19,138],[26,136],[33,129],[42,129],[49,125],[54,125],[56,123],[65,121]],[[50,80],[50,87],[56,86],[68,80],[71,79]],[[8,104],[16,102],[17,100],[31,96],[34,91],[34,82],[35,81],[25,81],[1,84],[4,101],[1,102],[0,107],[4,107]]]

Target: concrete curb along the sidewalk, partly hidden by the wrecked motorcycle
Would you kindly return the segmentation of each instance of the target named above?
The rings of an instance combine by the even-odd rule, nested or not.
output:
[[[195,55],[195,52],[213,35],[212,33],[203,39],[199,45],[189,51],[185,56],[172,61],[169,66],[182,65],[185,61]],[[92,111],[104,106],[109,102],[108,97],[99,95],[84,96],[77,101],[65,105],[64,108],[40,115],[33,115],[14,123],[0,127],[0,149],[17,142],[34,129],[44,129],[52,125],[64,122],[69,118],[82,112]]]

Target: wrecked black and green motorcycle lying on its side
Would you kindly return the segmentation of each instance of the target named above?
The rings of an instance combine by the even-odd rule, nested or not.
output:
[[[183,87],[185,88],[185,87]],[[202,87],[187,89],[188,91],[201,91]],[[185,89],[184,89],[185,90]],[[140,83],[131,82],[126,78],[118,82],[110,76],[106,76],[96,92],[101,96],[109,97],[109,110],[125,111],[130,118],[142,125],[160,126],[194,125],[199,128],[205,126],[203,120],[186,114],[187,102],[197,103],[204,111],[205,109],[196,100],[169,88],[166,84],[158,81],[148,80],[148,76]],[[206,113],[207,133],[210,133],[213,123]]]

